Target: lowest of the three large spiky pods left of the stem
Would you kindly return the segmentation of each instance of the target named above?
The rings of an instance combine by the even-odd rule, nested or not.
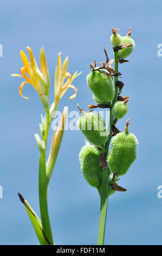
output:
[[[99,166],[100,151],[92,145],[82,147],[79,160],[83,177],[92,187],[100,187],[102,182],[102,166]]]

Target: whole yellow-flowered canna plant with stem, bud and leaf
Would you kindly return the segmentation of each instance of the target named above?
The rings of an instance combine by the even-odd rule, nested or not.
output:
[[[57,155],[59,153],[64,126],[66,124],[67,117],[67,107],[64,107],[62,118],[59,124],[59,128],[54,129],[54,135],[51,142],[49,155],[47,154],[47,140],[48,140],[48,131],[51,121],[55,117],[55,112],[59,106],[59,102],[68,90],[68,88],[74,89],[75,93],[70,96],[70,99],[74,99],[77,94],[76,87],[72,84],[74,79],[81,74],[75,72],[73,75],[70,74],[68,69],[68,57],[64,60],[63,64],[61,63],[61,53],[59,53],[57,66],[55,69],[55,84],[54,84],[54,102],[49,103],[49,89],[50,89],[50,76],[48,72],[46,55],[44,48],[41,48],[40,51],[40,68],[36,63],[33,52],[31,48],[27,47],[30,60],[28,60],[26,54],[21,50],[21,59],[23,62],[23,67],[21,68],[21,74],[12,74],[12,76],[22,77],[24,81],[19,87],[19,93],[24,99],[29,99],[27,96],[24,96],[22,89],[25,84],[31,84],[38,93],[40,100],[46,111],[46,115],[43,117],[41,115],[41,124],[40,132],[41,137],[38,134],[35,134],[36,143],[38,150],[40,151],[40,160],[39,160],[39,176],[38,176],[38,185],[39,185],[39,200],[40,200],[40,213],[41,220],[38,218],[34,210],[31,208],[27,200],[18,193],[21,202],[24,204],[25,209],[28,212],[31,223],[33,224],[35,233],[40,241],[41,245],[55,245],[53,240],[53,233],[51,230],[49,214],[48,214],[48,186],[53,173],[53,169],[57,160]]]

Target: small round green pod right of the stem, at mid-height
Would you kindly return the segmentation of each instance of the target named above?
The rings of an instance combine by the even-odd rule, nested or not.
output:
[[[112,113],[117,119],[123,118],[127,112],[128,105],[124,101],[117,101],[112,109]]]

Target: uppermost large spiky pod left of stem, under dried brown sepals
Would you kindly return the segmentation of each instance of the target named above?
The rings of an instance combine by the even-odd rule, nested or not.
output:
[[[109,102],[114,99],[114,85],[112,78],[100,71],[92,71],[87,75],[87,85],[100,102]]]

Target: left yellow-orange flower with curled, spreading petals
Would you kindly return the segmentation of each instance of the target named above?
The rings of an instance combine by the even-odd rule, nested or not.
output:
[[[11,76],[19,76],[25,79],[19,87],[19,93],[22,97],[25,99],[29,99],[28,97],[25,97],[22,94],[22,89],[26,83],[31,84],[37,91],[38,95],[48,95],[49,85],[50,85],[50,78],[47,68],[47,62],[46,62],[46,56],[44,53],[44,48],[42,47],[40,52],[40,66],[41,71],[37,66],[37,63],[35,61],[35,58],[33,56],[33,52],[31,51],[31,48],[27,46],[27,49],[29,51],[30,56],[30,62],[25,55],[25,53],[21,50],[20,55],[22,58],[22,62],[24,64],[23,68],[21,68],[21,75],[19,74],[12,74]],[[42,86],[41,86],[42,85]],[[43,92],[42,92],[43,90]]]

